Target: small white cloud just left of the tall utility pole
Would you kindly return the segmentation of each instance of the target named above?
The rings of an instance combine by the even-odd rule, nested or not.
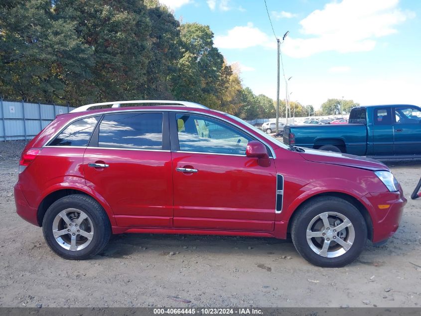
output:
[[[275,38],[269,37],[251,22],[247,26],[235,26],[228,30],[227,35],[215,36],[214,43],[219,48],[276,47]]]

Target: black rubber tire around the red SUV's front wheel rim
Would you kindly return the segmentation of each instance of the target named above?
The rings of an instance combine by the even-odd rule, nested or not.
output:
[[[305,203],[296,212],[298,213],[292,219],[291,226],[292,242],[297,252],[311,264],[326,268],[343,267],[357,259],[365,248],[367,242],[367,225],[361,213],[351,203],[337,197],[319,197]],[[307,242],[307,226],[315,217],[325,212],[335,212],[345,216],[351,221],[354,229],[355,237],[352,246],[345,253],[337,257],[328,258],[316,254]],[[348,228],[346,230],[349,232]],[[339,246],[336,243],[335,245]]]

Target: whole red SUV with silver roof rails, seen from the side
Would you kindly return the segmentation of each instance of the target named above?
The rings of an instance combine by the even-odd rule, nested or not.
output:
[[[392,236],[407,202],[380,162],[288,147],[183,101],[57,116],[25,147],[14,197],[66,259],[94,256],[111,234],[290,234],[321,267],[349,264],[367,239]]]

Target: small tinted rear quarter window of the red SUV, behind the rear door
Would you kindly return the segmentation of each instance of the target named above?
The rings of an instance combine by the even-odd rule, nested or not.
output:
[[[84,118],[67,126],[48,146],[88,146],[99,116]]]

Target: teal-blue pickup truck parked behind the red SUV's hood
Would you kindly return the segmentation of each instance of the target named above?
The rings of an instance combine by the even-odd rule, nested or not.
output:
[[[421,108],[358,106],[351,110],[348,124],[287,125],[283,142],[378,159],[421,158]]]

